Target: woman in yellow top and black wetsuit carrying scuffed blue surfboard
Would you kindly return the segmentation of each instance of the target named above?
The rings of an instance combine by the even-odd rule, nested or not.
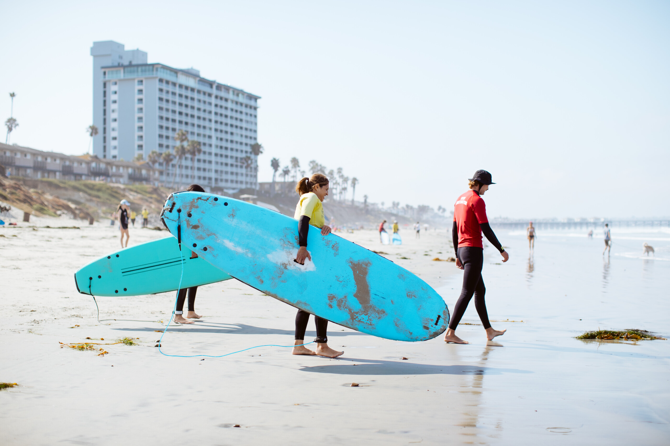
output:
[[[328,195],[328,177],[320,173],[315,173],[312,178],[304,177],[295,185],[295,192],[300,195],[300,199],[295,206],[295,219],[297,220],[298,243],[300,248],[295,256],[295,261],[301,265],[305,264],[305,259],[312,260],[312,256],[307,251],[307,235],[310,225],[321,228],[321,235],[328,235],[330,227],[326,226],[324,218],[324,206],[322,202]],[[384,223],[382,223],[383,225]],[[383,228],[383,226],[381,226]],[[380,230],[381,231],[381,230]],[[324,300],[326,296],[323,296]],[[328,346],[328,320],[314,315],[316,323],[316,352],[310,350],[302,344],[305,343],[305,330],[310,322],[310,314],[304,310],[297,310],[295,315],[295,347],[293,354],[318,354],[328,358],[336,358],[344,352],[337,352]]]

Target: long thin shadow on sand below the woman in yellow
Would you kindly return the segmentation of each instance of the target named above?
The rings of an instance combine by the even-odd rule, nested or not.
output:
[[[333,364],[329,366],[302,367],[302,372],[356,374],[356,375],[414,375],[414,374],[503,374],[503,373],[533,373],[530,370],[518,368],[495,368],[480,366],[440,366],[434,364],[417,364],[406,361],[386,361],[343,358],[351,364]]]

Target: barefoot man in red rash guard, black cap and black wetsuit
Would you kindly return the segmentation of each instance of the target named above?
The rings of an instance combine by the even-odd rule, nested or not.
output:
[[[486,239],[500,251],[502,261],[509,259],[507,251],[502,248],[500,242],[493,233],[488,219],[486,218],[486,205],[482,195],[488,191],[489,185],[494,185],[491,181],[491,174],[486,171],[476,171],[474,177],[468,181],[470,190],[462,193],[456,199],[454,205],[454,226],[452,227],[452,239],[454,241],[454,250],[456,251],[456,266],[464,269],[463,288],[461,290],[458,302],[454,306],[454,314],[449,321],[449,328],[444,336],[445,342],[454,342],[454,344],[468,344],[456,336],[456,327],[460,322],[468,303],[474,295],[474,306],[477,309],[486,338],[492,340],[496,336],[504,334],[507,330],[493,330],[488,322],[486,312],[486,302],[484,302],[484,280],[482,279],[482,265],[484,264],[484,246],[482,245],[482,232]]]

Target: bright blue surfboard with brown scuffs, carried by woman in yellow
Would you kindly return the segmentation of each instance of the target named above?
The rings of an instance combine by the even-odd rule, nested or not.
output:
[[[297,199],[297,197],[296,197]],[[168,197],[163,224],[206,261],[282,302],[382,338],[421,341],[444,332],[444,300],[393,261],[310,227],[312,261],[294,261],[297,220],[207,193]]]

